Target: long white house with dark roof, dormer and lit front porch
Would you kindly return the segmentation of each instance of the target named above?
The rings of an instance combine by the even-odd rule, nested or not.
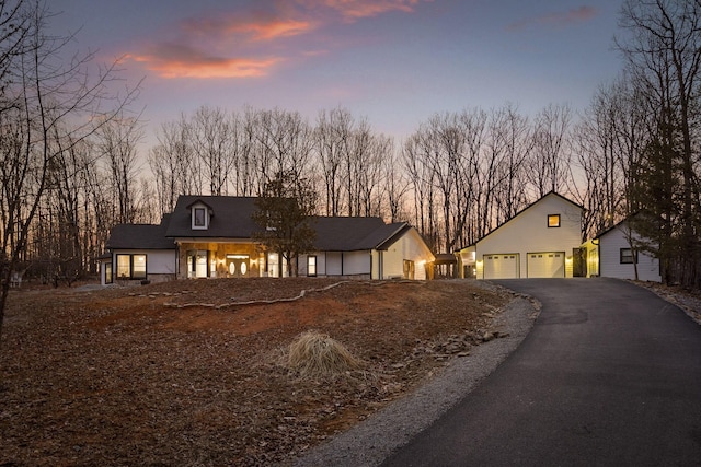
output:
[[[278,255],[253,240],[255,198],[181,196],[161,225],[118,225],[103,259],[103,283],[215,277],[274,277]],[[314,253],[298,273],[361,279],[426,279],[434,255],[405,222],[380,218],[313,217]],[[284,259],[283,259],[284,261]],[[283,265],[285,266],[285,265]],[[283,273],[287,268],[283,267]]]

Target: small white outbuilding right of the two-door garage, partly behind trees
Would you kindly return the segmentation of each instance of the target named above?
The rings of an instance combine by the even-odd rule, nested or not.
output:
[[[587,277],[660,282],[659,260],[646,253],[635,252],[629,240],[635,243],[640,236],[631,231],[628,220],[623,220],[587,242]]]

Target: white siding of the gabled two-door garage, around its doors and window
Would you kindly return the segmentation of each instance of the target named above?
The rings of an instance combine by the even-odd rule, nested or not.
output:
[[[560,214],[560,226],[549,227],[548,215]],[[582,209],[561,197],[550,194],[521,211],[476,243],[476,257],[519,254],[519,277],[528,277],[528,253],[565,252],[565,277],[572,277],[572,250],[582,243]],[[478,279],[484,278],[484,268],[478,261]]]

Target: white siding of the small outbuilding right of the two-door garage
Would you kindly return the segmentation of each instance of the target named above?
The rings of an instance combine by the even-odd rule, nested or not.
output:
[[[621,264],[621,248],[630,248],[625,238],[625,222],[599,238],[599,275],[607,278],[635,279],[632,264]],[[643,253],[637,254],[637,279],[659,282],[659,261]]]

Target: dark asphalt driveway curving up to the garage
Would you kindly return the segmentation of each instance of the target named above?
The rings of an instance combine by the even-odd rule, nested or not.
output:
[[[386,466],[701,466],[701,326],[613,279],[497,281],[537,297],[521,346]]]

